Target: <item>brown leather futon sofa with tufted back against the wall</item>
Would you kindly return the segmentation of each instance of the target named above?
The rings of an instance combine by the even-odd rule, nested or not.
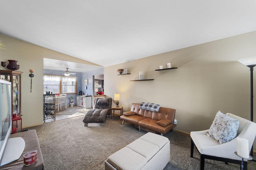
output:
[[[163,134],[172,130],[176,124],[174,124],[175,109],[170,109],[166,107],[160,107],[159,110],[149,111],[145,109],[140,109],[140,104],[133,103],[131,106],[131,111],[124,112],[120,116],[123,121],[122,126],[124,126],[124,121],[134,124],[140,131],[151,131]]]

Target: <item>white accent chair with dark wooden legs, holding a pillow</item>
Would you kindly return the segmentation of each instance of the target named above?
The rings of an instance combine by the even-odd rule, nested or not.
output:
[[[236,137],[248,139],[249,149],[251,150],[256,136],[256,123],[232,113],[226,113],[226,115],[239,120],[239,127]],[[208,131],[209,129],[204,131],[190,132],[190,157],[193,158],[194,146],[196,146],[196,149],[200,154],[200,170],[204,170],[204,159],[223,161],[225,164],[228,164],[228,162],[240,164],[241,167],[242,158],[234,154],[234,152],[237,151],[236,138],[227,143],[220,144],[219,141],[213,137],[206,135]],[[247,170],[247,160],[245,159],[244,170]]]

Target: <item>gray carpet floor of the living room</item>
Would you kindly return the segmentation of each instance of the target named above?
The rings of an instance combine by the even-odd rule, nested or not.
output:
[[[89,123],[84,127],[84,116],[72,117],[44,123],[36,129],[44,158],[45,170],[104,170],[104,160],[146,132],[139,132],[134,125],[125,123],[119,116],[107,117],[103,127]],[[199,169],[199,154],[194,150],[190,158],[190,137],[181,133],[168,132],[170,140],[170,162],[164,170]],[[125,159],[125,158],[120,158]],[[205,170],[239,170],[237,164],[205,161]],[[249,162],[249,170],[256,170],[256,163]]]

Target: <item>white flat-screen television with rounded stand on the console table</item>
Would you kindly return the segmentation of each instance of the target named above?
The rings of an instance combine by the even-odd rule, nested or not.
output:
[[[12,131],[12,86],[0,79],[0,166],[20,158],[25,141],[21,137],[10,138]]]

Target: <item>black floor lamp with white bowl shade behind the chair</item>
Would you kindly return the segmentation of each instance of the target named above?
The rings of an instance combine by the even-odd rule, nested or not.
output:
[[[239,59],[238,62],[250,68],[250,98],[251,98],[251,121],[253,121],[253,68],[256,66],[256,57],[248,57]],[[253,146],[250,151],[250,156],[253,156]],[[253,159],[255,161],[255,159]]]

